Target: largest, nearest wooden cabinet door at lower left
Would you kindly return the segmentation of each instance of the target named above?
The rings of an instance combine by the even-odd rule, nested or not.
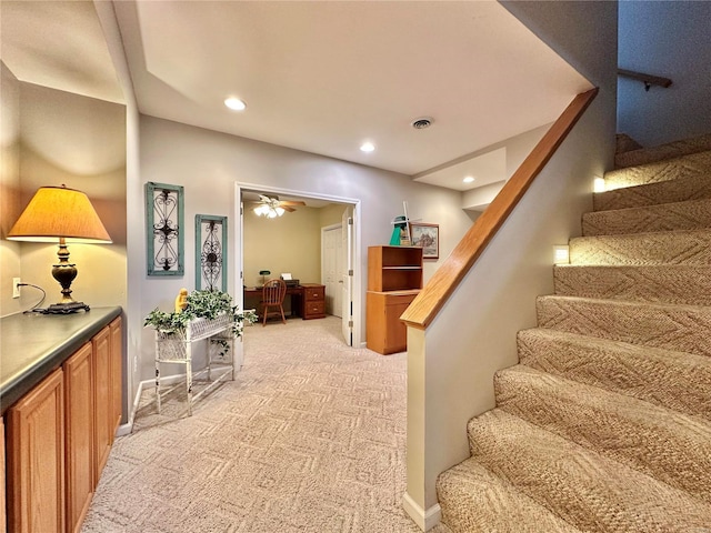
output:
[[[64,398],[57,369],[8,411],[8,529],[64,531]]]

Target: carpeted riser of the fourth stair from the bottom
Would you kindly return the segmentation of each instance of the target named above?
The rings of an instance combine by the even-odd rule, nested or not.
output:
[[[517,335],[521,364],[711,422],[711,359],[564,331]]]

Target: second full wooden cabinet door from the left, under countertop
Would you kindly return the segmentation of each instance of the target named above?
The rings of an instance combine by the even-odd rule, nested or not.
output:
[[[67,531],[79,531],[93,496],[93,356],[84,344],[63,365],[67,431]]]

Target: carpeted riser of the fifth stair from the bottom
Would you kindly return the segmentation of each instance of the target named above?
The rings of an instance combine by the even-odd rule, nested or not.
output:
[[[711,308],[539,296],[539,328],[711,356]]]

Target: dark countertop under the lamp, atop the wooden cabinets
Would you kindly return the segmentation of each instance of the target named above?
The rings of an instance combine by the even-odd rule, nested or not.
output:
[[[11,314],[0,319],[2,413],[113,319],[121,308],[73,314]]]

